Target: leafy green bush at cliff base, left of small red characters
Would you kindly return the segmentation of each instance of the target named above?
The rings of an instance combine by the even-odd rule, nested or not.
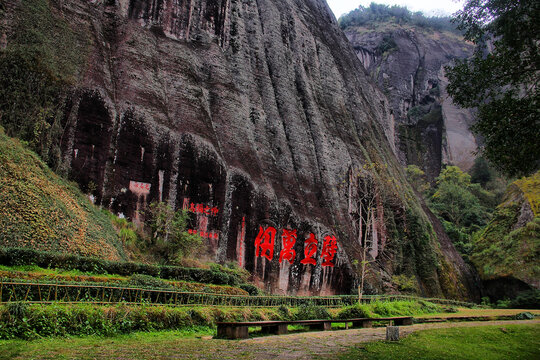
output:
[[[202,244],[202,238],[187,232],[189,213],[186,210],[174,211],[164,202],[151,203],[148,221],[152,244],[169,263],[193,254]]]

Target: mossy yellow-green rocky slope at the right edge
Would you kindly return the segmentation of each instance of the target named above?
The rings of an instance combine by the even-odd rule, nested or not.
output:
[[[474,243],[471,260],[485,278],[540,279],[540,172],[512,183]]]

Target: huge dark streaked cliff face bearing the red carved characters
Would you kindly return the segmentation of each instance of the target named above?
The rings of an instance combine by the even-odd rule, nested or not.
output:
[[[366,232],[370,291],[392,291],[395,273],[427,295],[474,291],[405,183],[387,100],[324,1],[51,4],[88,37],[62,153],[97,203],[136,221],[153,201],[190,211],[209,257],[274,293],[348,292]]]

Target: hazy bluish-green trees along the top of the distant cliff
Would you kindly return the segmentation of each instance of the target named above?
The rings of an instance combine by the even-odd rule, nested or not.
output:
[[[371,3],[368,7],[359,6],[339,18],[342,29],[351,26],[366,26],[376,22],[410,24],[421,28],[457,32],[449,17],[427,17],[421,12],[411,12],[404,6],[388,6]]]

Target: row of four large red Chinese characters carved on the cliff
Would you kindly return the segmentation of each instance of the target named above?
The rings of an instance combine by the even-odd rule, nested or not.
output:
[[[269,261],[272,261],[274,257],[274,245],[277,230],[269,226],[266,229],[259,226],[259,234],[255,238],[255,256],[265,257]],[[290,264],[294,262],[296,258],[296,251],[294,245],[297,240],[296,230],[283,229],[282,235],[282,250],[279,253],[279,262],[283,260],[289,261]],[[304,242],[304,259],[300,261],[304,265],[317,265],[317,260],[314,258],[317,254],[317,239],[313,233],[309,234],[309,237]],[[334,257],[337,253],[337,239],[335,236],[325,236],[321,251],[321,258],[323,260],[322,266],[334,267]]]

